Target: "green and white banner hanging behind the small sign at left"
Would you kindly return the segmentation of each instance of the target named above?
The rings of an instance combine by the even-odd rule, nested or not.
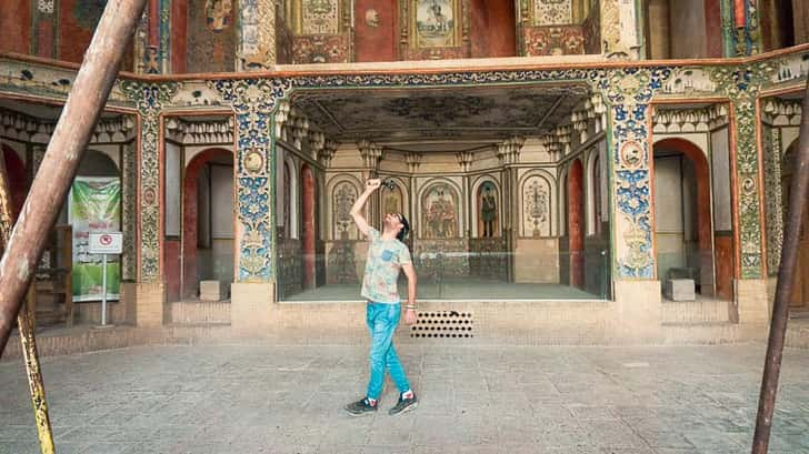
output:
[[[117,178],[77,176],[68,216],[73,226],[73,301],[99,301],[103,294],[103,255],[90,254],[90,233],[121,229],[121,182]],[[107,256],[107,300],[121,289],[120,255]]]

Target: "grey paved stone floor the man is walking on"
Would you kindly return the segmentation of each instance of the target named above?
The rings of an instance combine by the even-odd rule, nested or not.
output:
[[[362,346],[47,359],[57,452],[750,452],[763,345],[400,350],[420,406],[360,418],[342,406],[362,394]],[[771,453],[809,453],[807,379],[809,351],[787,351]],[[0,364],[0,452],[39,452],[20,362]]]

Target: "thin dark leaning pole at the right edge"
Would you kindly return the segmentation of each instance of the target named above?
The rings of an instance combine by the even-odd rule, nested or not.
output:
[[[798,236],[800,235],[803,210],[807,209],[807,198],[809,198],[809,79],[807,79],[802,105],[800,141],[795,157],[795,178],[789,188],[791,195],[787,208],[787,224],[783,228],[781,265],[778,269],[778,286],[776,287],[776,302],[772,307],[770,337],[767,342],[767,359],[765,361],[763,377],[761,379],[761,395],[756,418],[756,433],[752,438],[752,454],[767,454],[770,442],[770,427],[772,426],[776,393],[778,392],[778,376],[781,373],[783,342],[787,336],[789,300],[792,296],[795,265],[798,261]]]

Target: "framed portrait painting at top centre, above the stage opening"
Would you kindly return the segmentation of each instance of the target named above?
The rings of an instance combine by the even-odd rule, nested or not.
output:
[[[411,27],[417,48],[458,46],[458,0],[412,0]]]

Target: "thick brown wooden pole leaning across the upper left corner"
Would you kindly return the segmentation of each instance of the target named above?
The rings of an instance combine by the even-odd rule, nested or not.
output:
[[[0,355],[146,0],[110,0],[0,261]]]

